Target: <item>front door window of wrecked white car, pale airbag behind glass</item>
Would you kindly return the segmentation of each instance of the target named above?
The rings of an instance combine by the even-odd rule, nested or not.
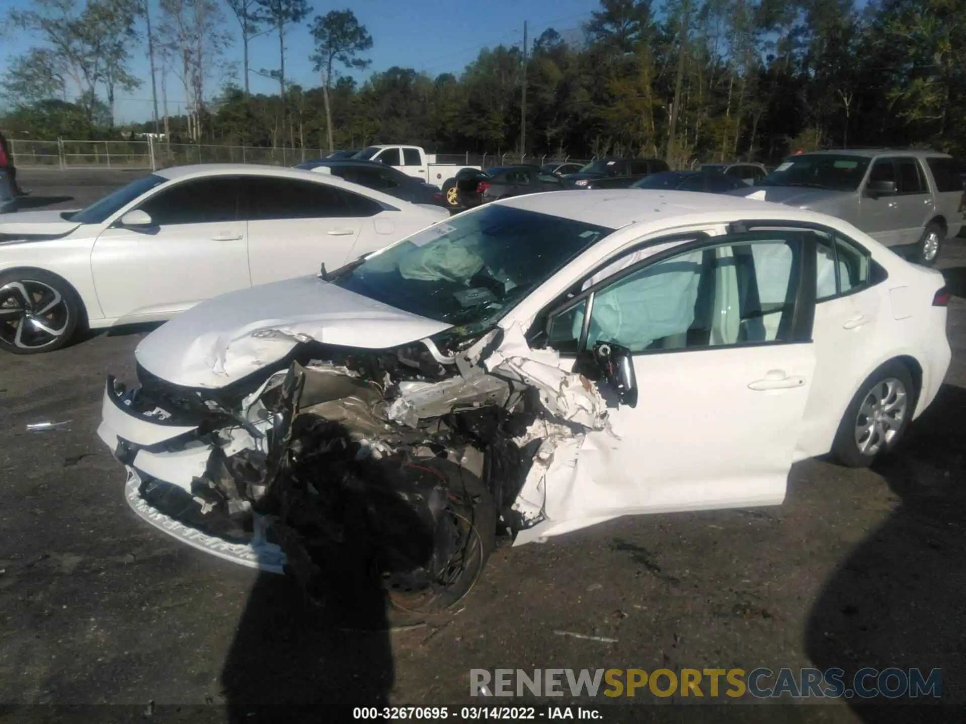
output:
[[[687,251],[644,265],[554,315],[561,352],[599,342],[634,352],[786,342],[798,292],[802,241],[772,232]]]

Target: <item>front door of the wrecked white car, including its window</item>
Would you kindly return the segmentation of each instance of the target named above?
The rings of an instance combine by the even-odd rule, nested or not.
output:
[[[548,483],[554,521],[784,498],[815,365],[802,271],[813,252],[791,231],[689,246],[629,266],[548,323],[552,347],[582,349],[577,369],[600,343],[630,349],[639,393],[611,407],[616,438],[587,436],[572,494]]]

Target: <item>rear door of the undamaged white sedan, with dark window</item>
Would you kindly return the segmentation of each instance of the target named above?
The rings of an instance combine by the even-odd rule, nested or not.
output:
[[[245,189],[252,284],[337,268],[377,237],[382,207],[325,182],[249,176]]]

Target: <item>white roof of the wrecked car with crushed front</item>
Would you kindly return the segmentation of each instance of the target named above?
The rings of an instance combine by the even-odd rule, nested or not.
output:
[[[611,229],[639,222],[667,221],[675,217],[687,223],[687,216],[718,212],[747,212],[750,216],[767,215],[771,218],[785,218],[789,214],[795,218],[801,216],[798,209],[743,196],[640,188],[552,191],[515,196],[496,203]]]

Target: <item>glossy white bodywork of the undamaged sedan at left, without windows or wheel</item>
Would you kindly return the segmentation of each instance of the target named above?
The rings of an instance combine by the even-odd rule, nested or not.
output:
[[[66,235],[0,242],[0,271],[40,268],[63,277],[79,294],[93,328],[170,319],[203,299],[254,283],[332,269],[448,216],[337,177],[301,169],[248,164],[177,166],[155,172],[166,181],[117,209],[101,224],[79,225],[61,210],[4,214],[0,234]],[[179,224],[142,233],[118,220],[181,181],[255,176],[324,183],[366,196],[387,208],[376,217],[244,220]],[[351,229],[352,235],[328,231]],[[324,237],[326,245],[320,247]],[[334,243],[328,243],[332,242]],[[320,251],[321,250],[321,251]],[[250,269],[250,270],[249,270]]]

